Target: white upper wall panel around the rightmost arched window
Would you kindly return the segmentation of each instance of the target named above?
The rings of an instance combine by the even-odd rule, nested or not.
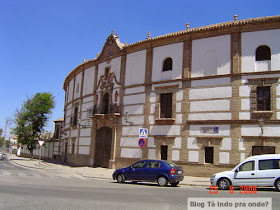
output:
[[[241,34],[241,72],[266,71],[256,68],[255,53],[260,45],[271,49],[271,70],[280,69],[280,29],[246,32]]]

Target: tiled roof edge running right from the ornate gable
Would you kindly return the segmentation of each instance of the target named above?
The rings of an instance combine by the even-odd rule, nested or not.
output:
[[[149,39],[146,39],[143,41],[135,42],[135,43],[127,45],[126,47],[142,44],[144,42],[148,42],[148,41],[152,41],[152,40],[158,40],[158,39],[163,39],[163,38],[167,38],[167,37],[174,37],[174,36],[189,34],[189,33],[194,33],[194,32],[208,31],[208,30],[226,28],[226,27],[231,27],[231,26],[242,26],[242,25],[246,25],[246,24],[273,22],[273,21],[280,21],[280,15],[270,16],[270,17],[251,18],[251,19],[245,19],[245,20],[235,20],[235,21],[217,23],[217,24],[213,24],[213,25],[202,26],[202,27],[197,27],[197,28],[192,28],[192,29],[186,29],[183,31],[173,32],[173,33],[149,38]]]

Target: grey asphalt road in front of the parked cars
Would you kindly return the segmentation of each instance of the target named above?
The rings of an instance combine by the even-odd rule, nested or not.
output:
[[[118,184],[113,180],[50,175],[7,160],[0,162],[0,209],[187,209],[188,199],[194,198],[272,198],[273,209],[279,209],[279,196],[280,192],[272,189],[258,189],[256,194],[240,194],[239,190],[210,194],[203,187]]]

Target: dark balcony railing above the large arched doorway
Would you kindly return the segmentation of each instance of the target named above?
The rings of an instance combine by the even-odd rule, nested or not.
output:
[[[97,114],[114,115],[119,113],[119,106],[117,104],[109,104],[107,106],[95,105],[87,109],[87,117],[95,117]]]

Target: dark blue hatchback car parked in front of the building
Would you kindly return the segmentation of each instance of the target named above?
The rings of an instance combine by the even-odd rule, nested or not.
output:
[[[115,170],[113,179],[118,183],[126,180],[133,182],[157,182],[159,186],[176,187],[183,181],[182,167],[165,160],[141,160],[129,167]]]

